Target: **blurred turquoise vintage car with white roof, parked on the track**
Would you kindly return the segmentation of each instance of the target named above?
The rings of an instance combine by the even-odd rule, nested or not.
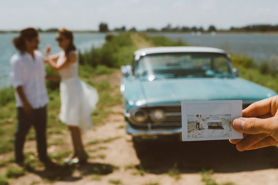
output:
[[[151,47],[121,67],[126,132],[132,136],[182,132],[181,101],[242,100],[242,108],[276,95],[238,77],[230,55],[212,47]]]

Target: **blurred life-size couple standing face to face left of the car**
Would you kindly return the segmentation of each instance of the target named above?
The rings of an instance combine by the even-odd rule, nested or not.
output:
[[[91,114],[96,109],[98,93],[79,79],[78,58],[71,31],[66,28],[58,31],[56,40],[61,51],[54,55],[50,55],[50,46],[46,46],[45,56],[37,50],[39,39],[38,32],[32,27],[21,30],[20,35],[13,39],[19,51],[10,60],[18,118],[15,162],[20,166],[24,164],[25,137],[30,127],[34,126],[39,159],[46,168],[56,166],[56,161],[48,157],[46,150],[46,107],[49,102],[46,79],[60,80],[59,119],[68,126],[73,144],[73,152],[64,162],[85,163],[88,155],[83,147],[81,133],[92,128]],[[45,64],[49,64],[60,76],[47,75]]]

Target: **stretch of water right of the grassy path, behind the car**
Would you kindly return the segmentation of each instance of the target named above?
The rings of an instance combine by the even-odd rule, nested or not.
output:
[[[278,57],[278,34],[259,33],[151,33],[174,41],[182,40],[192,46],[216,47],[230,54],[253,57],[256,62]]]

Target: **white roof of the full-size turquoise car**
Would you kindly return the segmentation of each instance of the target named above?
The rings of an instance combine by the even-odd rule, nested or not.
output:
[[[180,52],[201,52],[201,53],[221,53],[227,54],[226,51],[214,47],[199,46],[175,46],[175,47],[147,47],[134,52],[134,55],[148,55],[156,53],[180,53]]]

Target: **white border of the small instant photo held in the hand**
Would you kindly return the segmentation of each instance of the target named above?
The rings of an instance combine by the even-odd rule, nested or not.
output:
[[[220,107],[224,104],[229,103],[231,105],[230,115],[231,115],[231,128],[232,136],[226,137],[209,137],[209,138],[188,138],[188,127],[187,127],[187,113],[189,104],[215,104],[214,106]],[[217,105],[216,105],[217,104]],[[210,115],[220,115],[218,112],[220,109],[210,109]],[[200,114],[202,111],[196,112],[194,114]],[[192,115],[192,113],[191,113]],[[204,141],[204,140],[223,140],[223,139],[242,139],[243,134],[237,132],[233,129],[233,120],[237,117],[242,117],[242,100],[214,100],[214,101],[182,101],[182,141]]]

